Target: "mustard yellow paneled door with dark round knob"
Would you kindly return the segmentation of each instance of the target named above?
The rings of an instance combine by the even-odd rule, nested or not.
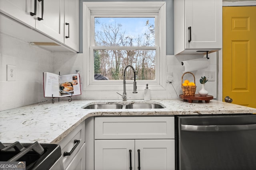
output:
[[[222,100],[256,108],[256,6],[223,7]]]

